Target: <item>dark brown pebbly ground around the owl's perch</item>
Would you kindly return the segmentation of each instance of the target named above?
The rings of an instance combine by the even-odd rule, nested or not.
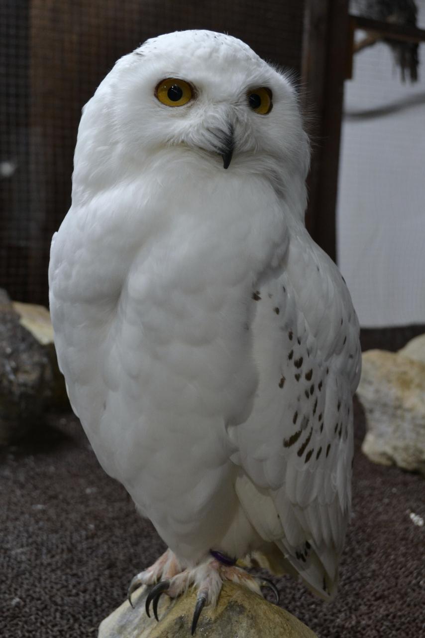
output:
[[[282,606],[319,637],[419,638],[425,526],[410,514],[425,519],[425,482],[370,463],[363,436],[356,404],[354,508],[335,602],[289,577],[275,582]],[[131,577],[164,549],[161,539],[103,472],[73,415],[51,415],[31,439],[3,449],[0,477],[0,635],[96,635]]]

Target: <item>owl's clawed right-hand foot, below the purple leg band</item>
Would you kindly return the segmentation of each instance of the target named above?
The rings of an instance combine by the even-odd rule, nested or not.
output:
[[[203,608],[205,605],[213,605],[213,607],[217,605],[222,584],[226,580],[243,585],[260,595],[262,595],[261,588],[268,587],[273,591],[276,602],[279,601],[279,593],[273,582],[265,578],[256,578],[247,574],[240,567],[236,567],[236,565],[228,562],[222,563],[217,558],[213,558],[213,560],[208,560],[206,563],[198,565],[198,567],[185,569],[180,574],[155,584],[146,598],[146,613],[150,618],[150,604],[152,603],[154,616],[158,620],[158,602],[163,593],[171,598],[176,598],[184,591],[187,591],[190,586],[195,586],[198,590],[198,595],[191,627],[191,633],[194,635]]]

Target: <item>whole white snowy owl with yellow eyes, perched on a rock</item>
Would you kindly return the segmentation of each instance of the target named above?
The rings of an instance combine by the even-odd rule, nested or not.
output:
[[[260,592],[254,556],[335,595],[350,511],[359,327],[306,232],[289,79],[210,31],[152,38],[83,108],[50,309],[69,399],[167,551],[136,575]]]

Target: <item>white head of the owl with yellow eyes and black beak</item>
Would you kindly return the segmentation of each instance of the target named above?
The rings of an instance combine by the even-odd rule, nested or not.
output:
[[[76,160],[74,179],[96,184],[178,161],[284,188],[304,181],[309,144],[287,75],[237,38],[176,31],[117,61],[83,109]]]

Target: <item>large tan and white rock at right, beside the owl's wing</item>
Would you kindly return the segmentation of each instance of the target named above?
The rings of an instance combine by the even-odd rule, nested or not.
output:
[[[368,350],[357,394],[366,413],[364,454],[374,463],[425,475],[425,362]]]

